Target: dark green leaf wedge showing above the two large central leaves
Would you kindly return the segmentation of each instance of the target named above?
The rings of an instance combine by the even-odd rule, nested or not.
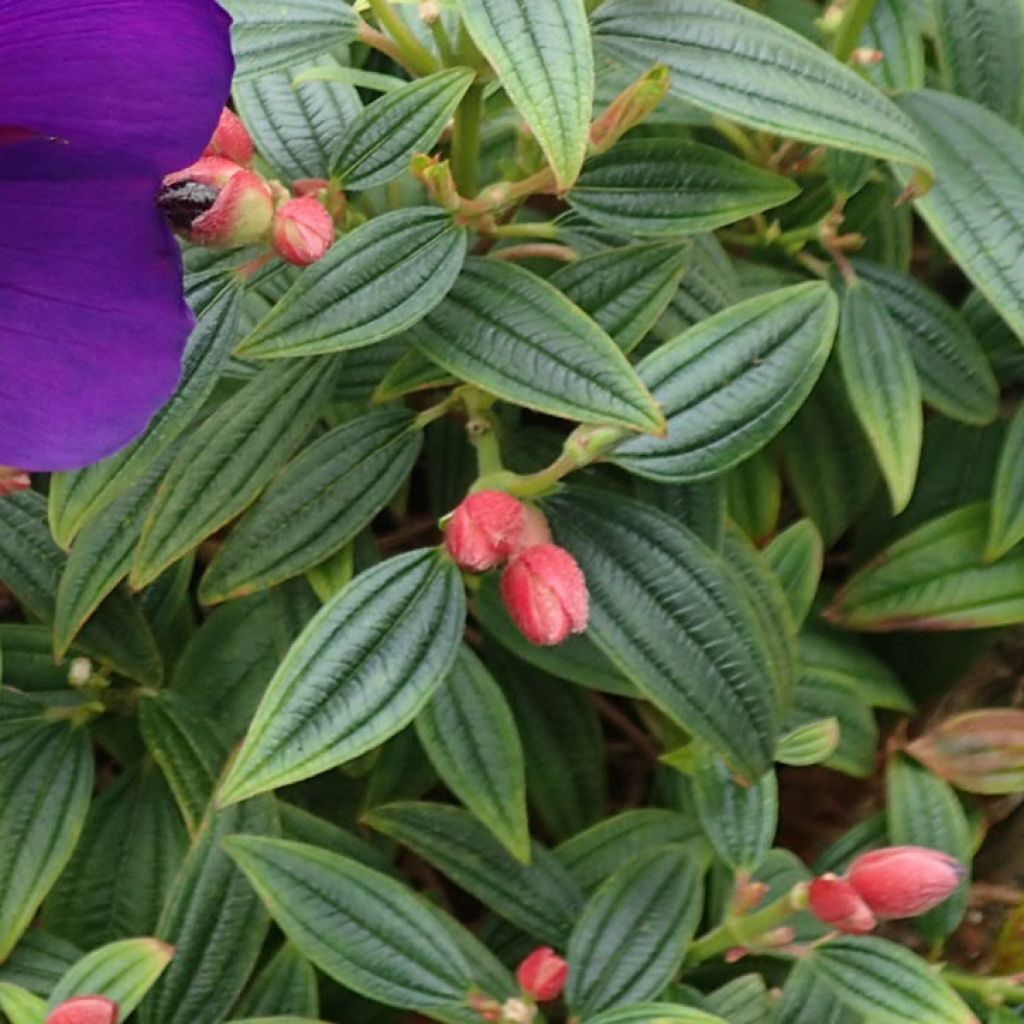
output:
[[[623,246],[567,263],[549,281],[631,352],[676,294],[691,252],[679,242]]]

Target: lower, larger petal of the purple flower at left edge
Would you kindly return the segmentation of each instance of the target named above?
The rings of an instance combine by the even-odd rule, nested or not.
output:
[[[0,146],[0,465],[94,462],[173,391],[191,315],[155,187],[122,158]]]

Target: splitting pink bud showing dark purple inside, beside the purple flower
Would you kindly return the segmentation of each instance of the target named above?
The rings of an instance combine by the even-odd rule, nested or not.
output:
[[[225,157],[204,157],[169,174],[157,206],[189,242],[218,249],[258,242],[273,220],[270,186]]]

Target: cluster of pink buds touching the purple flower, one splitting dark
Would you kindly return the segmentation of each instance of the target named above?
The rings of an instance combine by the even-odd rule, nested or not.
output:
[[[269,243],[283,259],[306,266],[334,244],[343,197],[328,203],[329,182],[281,182],[252,169],[255,145],[238,115],[225,110],[203,156],[164,178],[157,205],[194,245],[228,249]]]

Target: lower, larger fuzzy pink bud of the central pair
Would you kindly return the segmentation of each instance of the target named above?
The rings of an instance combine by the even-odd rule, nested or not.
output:
[[[520,552],[502,575],[512,621],[532,644],[550,647],[587,628],[587,581],[575,559],[555,544]]]

